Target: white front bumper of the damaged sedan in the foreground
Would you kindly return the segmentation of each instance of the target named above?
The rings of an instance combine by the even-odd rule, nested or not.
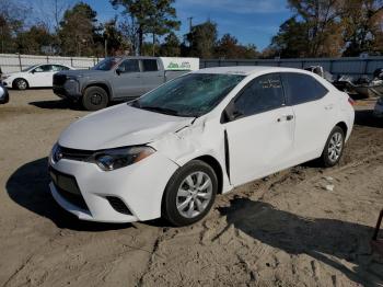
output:
[[[160,152],[147,159],[111,172],[96,164],[61,159],[49,160],[50,168],[60,174],[72,176],[85,205],[63,196],[51,182],[50,192],[56,202],[79,219],[100,222],[134,222],[161,217],[162,195],[178,165]],[[117,211],[108,198],[118,198],[129,214]]]

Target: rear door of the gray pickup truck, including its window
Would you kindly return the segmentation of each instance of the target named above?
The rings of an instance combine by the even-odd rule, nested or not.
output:
[[[149,92],[164,82],[164,72],[156,59],[141,59],[142,93]]]

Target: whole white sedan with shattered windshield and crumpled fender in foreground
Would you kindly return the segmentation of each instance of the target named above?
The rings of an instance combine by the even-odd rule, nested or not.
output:
[[[303,70],[195,71],[70,125],[49,157],[50,191],[84,220],[190,225],[235,186],[313,159],[337,164],[351,103]]]

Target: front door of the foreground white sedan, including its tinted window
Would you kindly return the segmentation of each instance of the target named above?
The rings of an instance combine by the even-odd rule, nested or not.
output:
[[[240,185],[289,167],[294,117],[279,73],[254,79],[232,103],[240,116],[224,124],[231,183]]]

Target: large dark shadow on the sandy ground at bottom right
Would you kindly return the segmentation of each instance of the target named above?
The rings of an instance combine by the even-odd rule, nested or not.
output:
[[[224,231],[234,226],[255,240],[289,254],[307,254],[361,285],[383,283],[383,265],[370,264],[373,259],[369,244],[373,234],[371,227],[336,219],[303,218],[267,203],[239,197],[219,211],[227,217]],[[341,261],[355,264],[353,269],[347,268]]]

